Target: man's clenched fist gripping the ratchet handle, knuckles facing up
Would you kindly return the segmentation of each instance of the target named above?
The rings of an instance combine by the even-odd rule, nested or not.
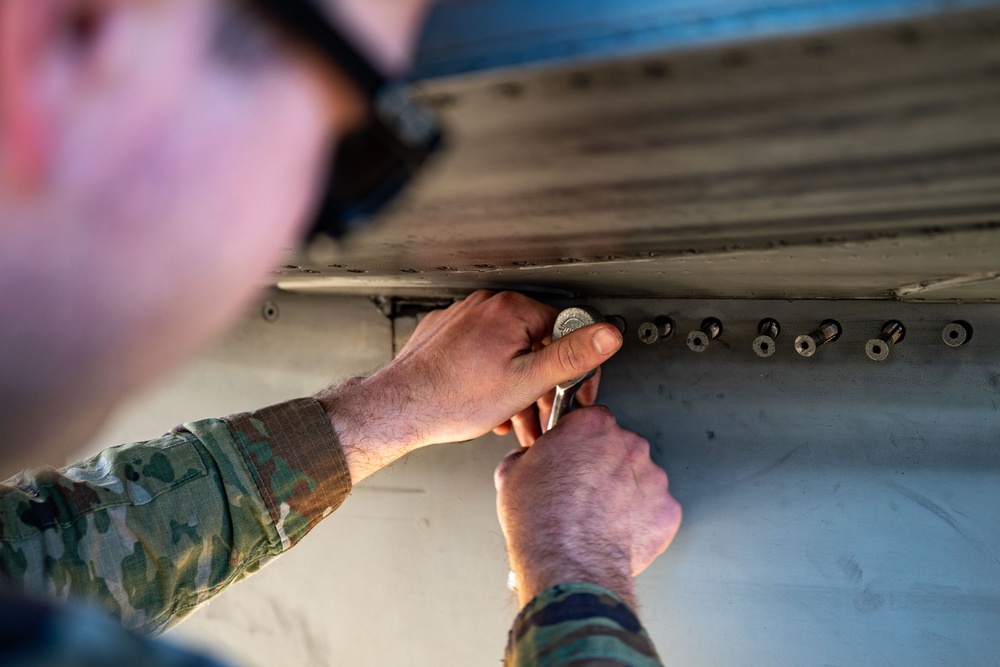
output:
[[[497,513],[522,606],[560,583],[583,581],[633,609],[632,577],[677,534],[681,507],[649,443],[607,408],[581,408],[496,471]]]

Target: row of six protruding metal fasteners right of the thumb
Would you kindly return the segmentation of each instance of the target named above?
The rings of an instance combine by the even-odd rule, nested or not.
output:
[[[674,335],[676,327],[669,317],[658,317],[639,325],[639,340],[647,345],[666,340]],[[836,320],[824,320],[809,333],[795,338],[795,351],[803,357],[811,357],[819,348],[836,341],[843,328]],[[753,341],[753,351],[761,358],[772,356],[778,350],[778,336],[781,325],[777,320],[767,318],[757,325],[757,337]],[[714,317],[706,318],[701,326],[688,334],[687,345],[692,352],[704,352],[713,340],[722,336],[722,322]],[[898,320],[890,320],[882,325],[877,337],[865,344],[865,352],[872,361],[885,361],[892,348],[906,337],[906,327]],[[972,339],[972,327],[968,322],[951,322],[941,331],[941,340],[949,347],[962,347]]]

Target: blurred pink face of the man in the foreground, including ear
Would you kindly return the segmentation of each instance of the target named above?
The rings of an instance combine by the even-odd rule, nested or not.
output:
[[[11,465],[12,446],[37,461],[81,444],[240,312],[296,245],[331,142],[363,108],[333,68],[227,7],[0,3]]]

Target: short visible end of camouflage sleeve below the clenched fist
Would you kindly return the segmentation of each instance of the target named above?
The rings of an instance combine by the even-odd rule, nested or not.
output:
[[[639,619],[611,591],[569,583],[543,591],[518,614],[506,667],[662,667]]]

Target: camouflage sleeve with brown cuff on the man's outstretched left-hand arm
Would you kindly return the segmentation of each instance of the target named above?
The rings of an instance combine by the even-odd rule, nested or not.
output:
[[[154,634],[294,546],[350,490],[314,399],[192,422],[0,485],[0,577]]]

